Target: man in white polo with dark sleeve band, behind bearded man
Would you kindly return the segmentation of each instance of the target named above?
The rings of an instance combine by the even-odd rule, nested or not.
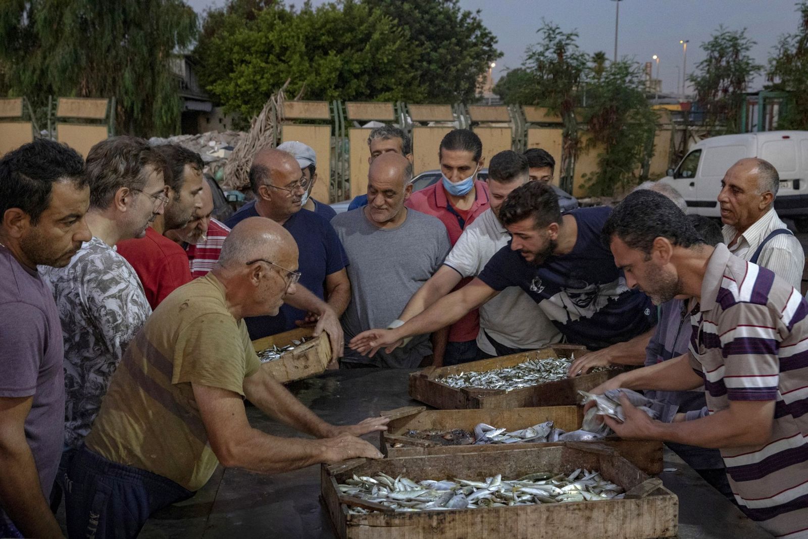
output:
[[[462,278],[478,275],[494,253],[507,245],[511,236],[499,221],[499,208],[507,195],[525,182],[528,160],[524,156],[507,150],[491,158],[486,179],[490,208],[465,228],[444,264],[410,299],[399,320],[406,322],[419,315]],[[561,341],[561,337],[536,302],[519,288],[507,288],[480,307],[480,353],[476,359],[545,348]]]

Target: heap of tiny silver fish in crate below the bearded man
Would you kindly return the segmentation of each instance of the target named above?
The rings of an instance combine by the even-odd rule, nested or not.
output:
[[[519,365],[501,367],[485,371],[470,371],[461,374],[449,374],[436,378],[436,382],[460,389],[461,387],[478,387],[481,389],[500,389],[511,391],[520,387],[537,386],[545,382],[554,382],[567,378],[574,357],[548,357],[547,359],[528,359]],[[591,370],[598,372],[603,367]]]

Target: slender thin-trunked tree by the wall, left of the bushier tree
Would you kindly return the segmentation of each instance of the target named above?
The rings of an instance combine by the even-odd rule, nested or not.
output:
[[[574,112],[589,56],[578,46],[577,31],[565,32],[556,24],[543,22],[538,32],[541,41],[528,47],[523,65],[533,80],[523,87],[520,98],[524,105],[542,105],[561,115],[564,129],[559,179],[562,189],[571,192],[580,142]]]

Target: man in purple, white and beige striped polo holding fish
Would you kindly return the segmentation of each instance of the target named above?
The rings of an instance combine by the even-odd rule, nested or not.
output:
[[[654,211],[648,211],[653,207]],[[688,303],[688,354],[612,378],[615,387],[686,391],[704,384],[709,415],[651,420],[625,397],[621,437],[718,448],[741,510],[776,537],[804,537],[808,522],[808,416],[804,344],[808,303],[771,270],[705,245],[667,198],[638,191],[604,225],[629,286],[661,304]]]

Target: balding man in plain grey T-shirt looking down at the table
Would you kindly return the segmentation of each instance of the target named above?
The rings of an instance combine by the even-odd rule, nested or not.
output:
[[[351,265],[354,286],[343,315],[343,330],[353,337],[395,319],[423,282],[446,257],[449,240],[440,221],[407,210],[412,164],[398,153],[385,153],[370,165],[368,205],[332,221]],[[369,359],[346,350],[342,364],[414,368],[431,353],[428,332],[406,346]]]

